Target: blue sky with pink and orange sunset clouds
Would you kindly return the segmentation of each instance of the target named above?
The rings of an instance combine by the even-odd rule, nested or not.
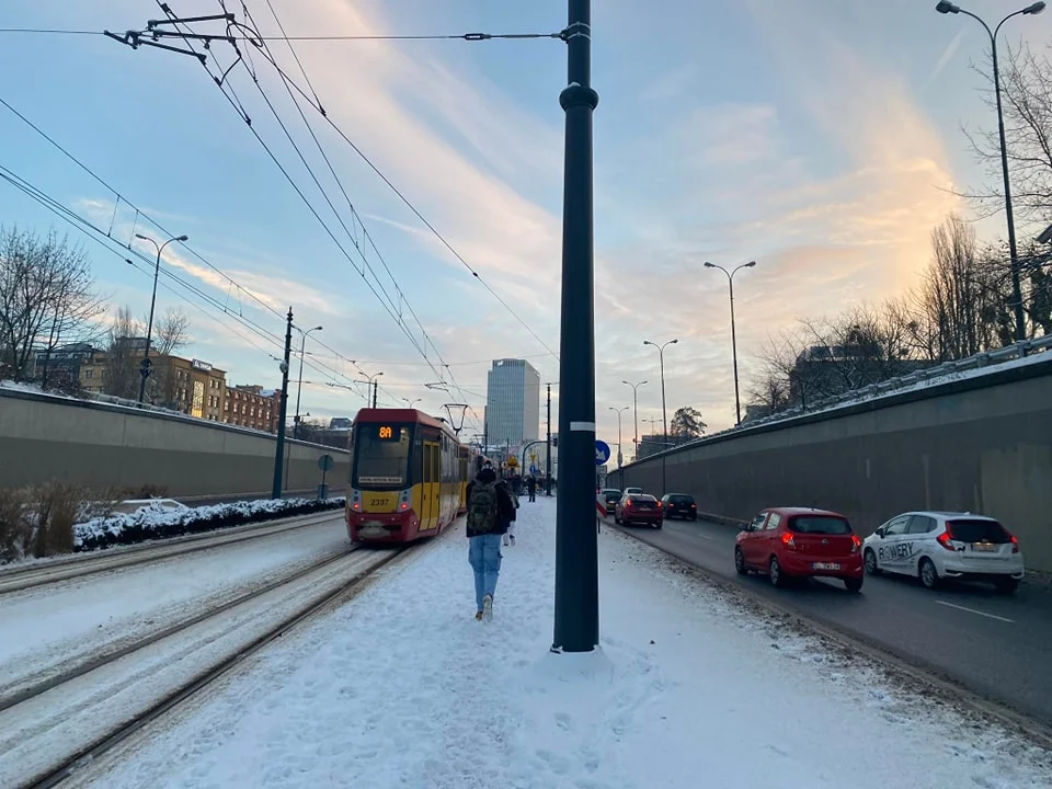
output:
[[[180,16],[220,11],[218,0],[169,4]],[[264,36],[279,35],[271,5],[290,36],[547,34],[567,19],[554,0],[226,5],[238,22],[247,9]],[[721,430],[734,421],[728,283],[702,264],[756,261],[734,278],[743,391],[768,335],[912,287],[931,228],[969,215],[954,190],[984,182],[961,126],[994,123],[970,68],[984,62],[986,34],[934,1],[593,5],[597,434],[618,441],[613,409],[632,404],[624,380],[648,381],[638,416],[651,432],[661,375],[643,341],[672,339],[668,419],[690,405]],[[1015,10],[967,8],[992,22]],[[148,0],[12,0],[0,27],[123,33],[159,18]],[[1009,21],[1002,42],[1041,46],[1050,34],[1047,12]],[[81,241],[114,310],[149,310],[155,249],[135,233],[185,233],[164,251],[158,309],[187,312],[184,355],[228,382],[281,385],[291,307],[297,328],[323,327],[305,346],[312,418],[353,416],[365,404],[357,381],[381,373],[381,404],[420,398],[441,414],[467,403],[470,436],[490,361],[518,357],[556,382],[557,421],[562,42],[299,41],[290,53],[268,41],[307,96],[294,92],[298,105],[245,42],[240,62],[222,42],[206,53],[213,75],[230,67],[221,88],[191,56],[102,35],[0,42],[0,99],[101,179],[0,104],[0,174],[77,217],[0,181],[0,224]],[[980,222],[980,235],[996,238],[1003,221]],[[294,332],[293,398],[300,341]],[[447,390],[425,386],[439,380]]]

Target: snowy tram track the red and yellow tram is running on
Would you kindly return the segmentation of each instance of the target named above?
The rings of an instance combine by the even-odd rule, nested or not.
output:
[[[15,786],[62,782],[290,628],[358,594],[411,550],[355,547],[325,557],[4,698],[0,754],[7,757],[0,756],[0,773],[11,775],[8,758],[23,773]]]

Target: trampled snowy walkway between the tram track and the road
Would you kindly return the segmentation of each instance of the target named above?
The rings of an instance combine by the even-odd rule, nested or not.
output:
[[[746,613],[613,529],[599,536],[602,651],[551,654],[554,511],[523,502],[492,622],[473,618],[459,527],[88,785],[1052,786],[1048,752]]]

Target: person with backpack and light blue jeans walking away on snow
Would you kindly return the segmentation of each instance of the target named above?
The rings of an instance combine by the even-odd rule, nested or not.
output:
[[[474,571],[476,619],[493,618],[493,595],[501,573],[503,514],[514,513],[507,491],[498,485],[496,472],[483,468],[468,484],[468,563]]]

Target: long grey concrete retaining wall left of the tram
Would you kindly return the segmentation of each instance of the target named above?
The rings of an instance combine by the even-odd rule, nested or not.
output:
[[[0,389],[0,488],[61,480],[94,488],[159,485],[172,498],[268,498],[276,437],[179,414]],[[331,455],[344,492],[345,450],[288,442],[286,490],[313,495]]]

